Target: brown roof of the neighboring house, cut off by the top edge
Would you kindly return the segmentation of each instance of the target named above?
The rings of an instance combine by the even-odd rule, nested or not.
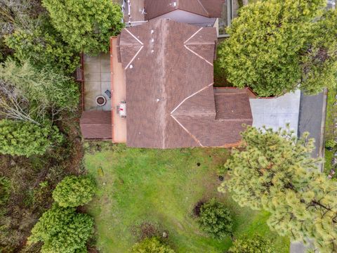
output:
[[[208,18],[220,18],[225,0],[145,0],[145,19],[151,20],[175,10]]]

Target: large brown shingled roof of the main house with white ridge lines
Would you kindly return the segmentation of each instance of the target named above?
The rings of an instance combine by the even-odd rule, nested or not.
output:
[[[127,145],[229,146],[252,116],[246,91],[213,89],[216,29],[151,20],[122,30]]]

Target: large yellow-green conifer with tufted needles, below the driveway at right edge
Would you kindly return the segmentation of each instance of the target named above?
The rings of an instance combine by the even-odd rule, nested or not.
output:
[[[303,134],[248,126],[245,149],[234,151],[225,166],[230,191],[242,207],[270,212],[267,223],[293,240],[313,239],[320,252],[337,251],[337,183],[320,174],[310,152],[314,140]]]

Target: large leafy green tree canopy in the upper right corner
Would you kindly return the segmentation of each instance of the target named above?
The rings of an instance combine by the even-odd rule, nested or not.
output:
[[[268,0],[244,6],[218,52],[227,79],[258,96],[336,86],[337,11],[322,15],[325,5],[325,0]]]

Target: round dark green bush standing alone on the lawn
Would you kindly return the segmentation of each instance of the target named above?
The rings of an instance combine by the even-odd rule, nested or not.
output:
[[[214,238],[221,239],[232,235],[232,215],[225,205],[215,198],[201,206],[197,221],[201,229]]]

